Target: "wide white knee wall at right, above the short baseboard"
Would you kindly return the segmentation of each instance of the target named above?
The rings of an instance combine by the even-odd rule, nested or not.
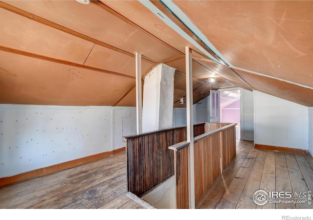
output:
[[[254,94],[254,143],[308,149],[308,107],[259,91]]]

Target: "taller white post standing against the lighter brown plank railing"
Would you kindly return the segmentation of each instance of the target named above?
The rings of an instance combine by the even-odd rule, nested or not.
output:
[[[194,163],[194,126],[193,126],[193,85],[192,85],[192,53],[186,46],[186,105],[187,105],[187,142],[188,147],[188,196],[189,208],[195,205],[195,163]]]

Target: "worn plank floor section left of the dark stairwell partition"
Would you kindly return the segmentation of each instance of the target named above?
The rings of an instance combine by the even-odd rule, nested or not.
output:
[[[5,209],[142,209],[126,196],[125,152],[0,189]]]

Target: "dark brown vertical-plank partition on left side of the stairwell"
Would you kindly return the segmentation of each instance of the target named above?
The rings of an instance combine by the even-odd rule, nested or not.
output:
[[[194,125],[194,135],[205,124]],[[186,140],[186,127],[163,129],[125,137],[128,191],[141,197],[174,175],[174,152],[168,147]]]

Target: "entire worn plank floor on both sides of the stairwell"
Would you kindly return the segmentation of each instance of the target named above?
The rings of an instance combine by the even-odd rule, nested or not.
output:
[[[313,159],[237,141],[237,156],[197,208],[309,208],[308,203],[256,205],[255,191],[313,191]],[[126,196],[125,152],[55,174],[0,188],[1,209],[142,209]]]

